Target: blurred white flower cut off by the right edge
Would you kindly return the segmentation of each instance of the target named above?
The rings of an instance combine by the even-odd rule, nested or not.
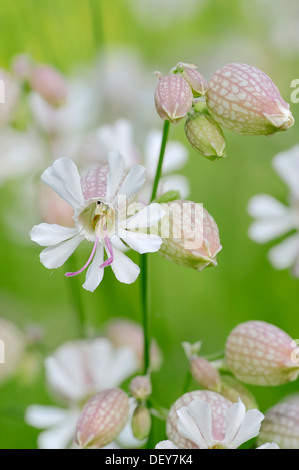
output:
[[[270,250],[269,260],[276,269],[292,268],[299,277],[299,145],[276,155],[273,166],[289,187],[289,207],[267,194],[254,196],[248,212],[256,220],[249,236],[257,243],[266,243],[295,231]]]

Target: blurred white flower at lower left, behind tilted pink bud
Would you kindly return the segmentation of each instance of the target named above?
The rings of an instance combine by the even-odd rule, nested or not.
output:
[[[84,401],[91,395],[119,386],[138,369],[130,348],[115,348],[107,339],[79,340],[64,344],[45,361],[49,389],[68,408],[31,405],[26,422],[38,429],[41,449],[63,449],[73,441]]]

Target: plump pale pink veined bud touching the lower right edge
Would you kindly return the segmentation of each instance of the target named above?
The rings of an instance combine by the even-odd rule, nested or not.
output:
[[[297,344],[280,328],[262,321],[238,325],[229,335],[225,360],[230,371],[252,385],[281,385],[299,375]]]

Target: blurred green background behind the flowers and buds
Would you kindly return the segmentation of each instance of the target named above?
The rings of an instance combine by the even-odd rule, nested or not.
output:
[[[296,0],[2,0],[0,66],[8,69],[19,53],[50,63],[68,77],[97,64],[94,86],[99,100],[91,106],[98,109],[87,112],[98,113],[99,125],[131,119],[142,146],[149,128],[162,127],[154,110],[153,72],[167,73],[178,61],[196,64],[207,79],[229,62],[257,66],[290,101],[291,81],[299,78],[298,28]],[[124,101],[130,89],[130,101]],[[299,105],[291,104],[291,109],[299,122]],[[182,173],[190,181],[190,199],[202,202],[214,216],[223,250],[218,267],[202,273],[158,254],[150,257],[152,333],[164,356],[161,370],[153,374],[154,397],[165,407],[180,395],[188,367],[182,341],[202,340],[204,354],[221,351],[230,330],[250,319],[274,323],[299,338],[298,279],[274,270],[267,260],[271,244],[257,245],[247,235],[247,204],[253,195],[269,193],[287,202],[287,188],[271,160],[298,143],[298,125],[270,138],[225,132],[228,156],[216,163],[190,148],[183,124],[170,132],[171,139],[188,149]],[[0,149],[0,173],[2,158]],[[78,328],[64,270],[45,269],[39,247],[27,235],[27,227],[40,219],[33,220],[38,216],[26,199],[16,198],[22,184],[20,177],[1,179],[0,315],[22,330],[30,325],[43,329],[42,362],[45,354],[76,338]],[[86,253],[79,251],[79,264]],[[95,293],[80,291],[93,331],[113,316],[140,322],[138,282],[121,285],[106,271]],[[53,399],[45,388],[43,368],[32,372],[35,368],[29,359],[26,370],[0,387],[1,448],[36,447],[38,431],[24,423],[24,410]],[[251,390],[265,411],[288,392],[299,391],[299,382]],[[164,428],[156,422],[156,441],[164,438]]]

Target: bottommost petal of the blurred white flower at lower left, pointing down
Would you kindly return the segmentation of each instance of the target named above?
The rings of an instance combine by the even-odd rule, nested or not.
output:
[[[79,412],[69,412],[68,418],[59,426],[43,431],[38,436],[39,449],[66,449],[75,437]]]

